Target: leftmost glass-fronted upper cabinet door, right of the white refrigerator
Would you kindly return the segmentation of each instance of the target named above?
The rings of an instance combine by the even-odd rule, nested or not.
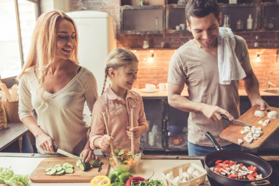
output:
[[[165,33],[166,11],[163,5],[122,6],[122,34]]]

